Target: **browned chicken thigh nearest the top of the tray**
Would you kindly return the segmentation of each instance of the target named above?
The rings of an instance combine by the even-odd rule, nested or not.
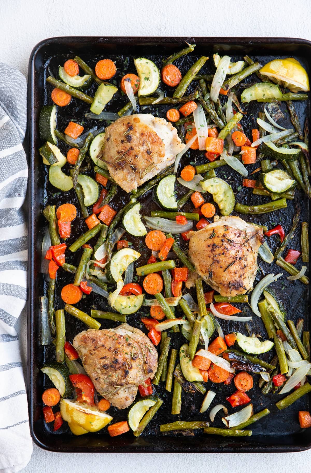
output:
[[[185,148],[176,128],[151,114],[121,117],[106,128],[102,158],[126,192],[170,166]]]

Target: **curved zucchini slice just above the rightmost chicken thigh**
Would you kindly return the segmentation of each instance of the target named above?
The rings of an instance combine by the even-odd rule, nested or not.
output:
[[[235,194],[231,185],[219,177],[207,179],[201,182],[201,185],[204,191],[213,195],[221,215],[230,215],[235,207]]]

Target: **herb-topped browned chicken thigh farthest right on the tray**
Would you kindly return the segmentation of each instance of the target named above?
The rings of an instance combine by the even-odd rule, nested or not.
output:
[[[188,255],[197,273],[221,296],[252,289],[258,248],[264,241],[262,228],[228,216],[188,236]]]

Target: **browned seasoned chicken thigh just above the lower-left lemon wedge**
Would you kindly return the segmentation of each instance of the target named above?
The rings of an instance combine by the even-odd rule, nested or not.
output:
[[[85,330],[73,345],[98,393],[118,409],[132,404],[138,385],[157,370],[157,350],[141,330],[128,324]]]

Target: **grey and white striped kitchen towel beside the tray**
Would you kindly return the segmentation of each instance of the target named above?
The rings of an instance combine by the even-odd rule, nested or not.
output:
[[[24,468],[33,449],[18,334],[27,287],[26,93],[25,77],[0,63],[0,472],[5,473]]]

